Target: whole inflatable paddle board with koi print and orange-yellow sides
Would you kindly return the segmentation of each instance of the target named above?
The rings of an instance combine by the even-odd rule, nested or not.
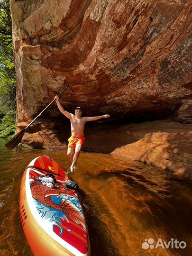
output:
[[[53,187],[42,182],[53,177]],[[50,175],[51,174],[51,175]],[[90,256],[85,217],[77,193],[66,186],[64,170],[50,157],[27,166],[20,187],[22,227],[35,256]]]

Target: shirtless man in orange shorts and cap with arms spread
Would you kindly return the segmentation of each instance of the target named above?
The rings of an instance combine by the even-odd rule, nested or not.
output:
[[[87,121],[95,121],[101,118],[109,118],[110,115],[103,115],[97,117],[82,117],[82,110],[80,107],[77,107],[75,109],[75,115],[73,115],[64,110],[64,108],[61,106],[61,103],[59,102],[58,96],[55,96],[55,100],[59,110],[64,114],[65,117],[67,117],[71,121],[71,137],[68,139],[69,144],[67,149],[67,155],[69,160],[72,162],[70,170],[71,172],[73,172],[74,167],[77,163],[77,159],[79,158],[80,151],[85,141],[83,132],[85,123]],[[73,156],[74,150],[75,152]]]

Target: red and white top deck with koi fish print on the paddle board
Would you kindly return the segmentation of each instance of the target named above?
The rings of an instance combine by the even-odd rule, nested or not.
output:
[[[40,177],[46,174],[55,175],[54,188],[42,184]],[[87,255],[89,238],[82,206],[77,193],[65,186],[66,180],[67,175],[54,160],[37,157],[27,166],[27,202],[47,235],[69,251],[75,248],[80,255]]]

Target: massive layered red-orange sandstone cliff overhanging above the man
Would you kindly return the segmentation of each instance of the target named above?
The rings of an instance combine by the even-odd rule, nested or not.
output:
[[[67,84],[69,112],[191,122],[190,0],[11,0],[11,13],[18,129]],[[23,141],[64,148],[69,130],[56,104],[42,119]]]

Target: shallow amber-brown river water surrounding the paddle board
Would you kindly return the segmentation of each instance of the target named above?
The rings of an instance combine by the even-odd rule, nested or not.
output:
[[[5,143],[0,139],[0,255],[33,256],[19,217],[23,172],[39,155],[52,157],[65,170],[70,163],[65,151],[9,151]],[[85,152],[69,177],[80,188],[92,256],[192,255],[192,188],[188,180],[119,156]],[[151,244],[146,241],[149,238]],[[176,239],[186,247],[176,248],[185,246]],[[165,248],[164,241],[172,243]]]

